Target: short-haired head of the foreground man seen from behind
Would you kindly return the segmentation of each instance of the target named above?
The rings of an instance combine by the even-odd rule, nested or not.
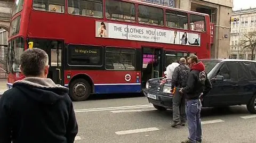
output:
[[[20,66],[26,77],[37,77],[44,73],[49,58],[45,51],[39,48],[27,49],[21,54]]]

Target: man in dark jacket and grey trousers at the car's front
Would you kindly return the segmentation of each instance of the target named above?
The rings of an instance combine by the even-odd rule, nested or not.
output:
[[[186,113],[185,113],[185,97],[179,92],[179,88],[186,87],[189,67],[186,65],[186,58],[180,58],[180,65],[177,66],[172,74],[172,89],[174,86],[177,88],[172,98],[172,108],[173,108],[173,123],[172,127],[177,125],[185,125]]]

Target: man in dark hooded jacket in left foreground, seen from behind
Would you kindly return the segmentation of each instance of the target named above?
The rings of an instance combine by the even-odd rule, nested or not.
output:
[[[1,143],[71,143],[78,132],[68,88],[47,79],[48,55],[38,48],[20,57],[25,79],[0,99]]]

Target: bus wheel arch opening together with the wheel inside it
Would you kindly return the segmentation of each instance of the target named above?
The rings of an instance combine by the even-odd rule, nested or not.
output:
[[[75,75],[69,83],[69,94],[73,101],[86,100],[93,92],[92,79],[86,74]]]

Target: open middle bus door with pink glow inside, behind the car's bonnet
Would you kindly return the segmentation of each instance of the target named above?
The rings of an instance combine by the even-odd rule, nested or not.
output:
[[[146,87],[149,79],[162,77],[162,54],[162,48],[142,47],[142,88]]]

